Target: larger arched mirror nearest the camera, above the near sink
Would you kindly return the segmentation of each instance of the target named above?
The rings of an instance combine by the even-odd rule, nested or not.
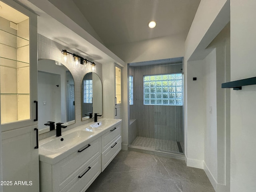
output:
[[[38,60],[39,134],[52,128],[48,122],[75,123],[75,87],[68,68],[60,62],[41,59]]]

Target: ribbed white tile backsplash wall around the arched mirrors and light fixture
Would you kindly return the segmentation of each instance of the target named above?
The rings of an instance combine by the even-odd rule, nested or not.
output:
[[[72,59],[72,55],[68,56],[68,60],[64,62],[63,60],[63,54],[61,53],[62,50],[66,49],[68,52],[77,54],[79,56],[82,56],[83,58],[88,58],[88,56],[82,55],[74,50],[71,50],[70,48],[63,46],[62,44],[59,44],[53,40],[50,40],[49,38],[46,38],[45,36],[42,36],[38,34],[38,59],[51,59],[56,60],[60,63],[62,63],[64,66],[70,70],[71,74],[73,75],[74,81],[75,81],[75,108],[76,108],[76,123],[69,125],[64,131],[70,130],[72,128],[75,128],[77,126],[83,125],[88,123],[88,121],[92,120],[86,120],[81,121],[81,83],[83,76],[91,72],[91,65],[87,64],[87,67],[85,69],[77,68],[75,62]],[[88,58],[90,61],[94,61],[90,58]],[[94,61],[95,62],[95,61]],[[100,80],[102,81],[102,64],[96,63],[96,71],[95,73],[98,74],[100,77]],[[82,67],[81,64],[79,64],[79,67]],[[40,117],[38,117],[40,118]],[[47,138],[49,136],[53,136],[56,134],[56,130],[51,132],[46,132],[44,134],[39,135],[39,140],[43,138]]]

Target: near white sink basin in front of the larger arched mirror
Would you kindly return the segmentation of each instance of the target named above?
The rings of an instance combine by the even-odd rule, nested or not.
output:
[[[39,148],[50,152],[62,152],[84,141],[92,136],[94,132],[79,130],[64,136],[56,137],[48,142],[39,145]]]

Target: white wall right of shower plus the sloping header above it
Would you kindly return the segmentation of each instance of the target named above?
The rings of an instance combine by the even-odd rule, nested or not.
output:
[[[229,0],[201,0],[185,42],[185,154],[188,166],[203,168],[204,162],[204,121],[202,90],[202,59],[211,50],[205,48],[229,20]],[[227,12],[227,13],[226,13]],[[199,49],[199,48],[200,49]],[[195,56],[196,55],[196,56]],[[193,59],[201,60],[194,61]],[[199,77],[192,81],[193,77]]]

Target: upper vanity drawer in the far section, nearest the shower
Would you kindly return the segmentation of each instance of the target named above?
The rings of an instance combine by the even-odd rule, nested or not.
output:
[[[101,136],[102,152],[112,145],[113,140],[121,134],[121,124],[115,126]]]

